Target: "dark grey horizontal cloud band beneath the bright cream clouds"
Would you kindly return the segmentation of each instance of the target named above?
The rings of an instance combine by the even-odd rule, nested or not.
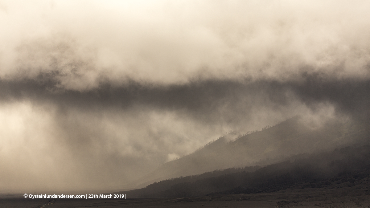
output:
[[[162,110],[185,110],[194,114],[212,114],[227,106],[239,111],[256,105],[288,106],[292,96],[309,107],[329,102],[337,111],[369,117],[369,80],[331,78],[320,74],[304,74],[299,81],[269,80],[199,80],[179,85],[141,84],[131,81],[124,86],[102,83],[90,91],[58,90],[51,80],[0,82],[1,100],[31,99],[48,101],[61,107],[117,108],[135,106]],[[245,112],[245,110],[243,110]]]

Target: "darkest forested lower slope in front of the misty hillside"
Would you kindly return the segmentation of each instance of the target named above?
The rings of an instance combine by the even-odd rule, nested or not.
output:
[[[137,197],[190,197],[320,188],[333,184],[353,186],[356,181],[369,177],[370,173],[370,145],[340,148],[305,158],[298,155],[296,158],[263,168],[234,168],[165,180],[125,193]]]

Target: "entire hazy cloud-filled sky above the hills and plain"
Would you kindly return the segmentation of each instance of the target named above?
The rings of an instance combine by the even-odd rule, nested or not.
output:
[[[0,0],[0,191],[125,184],[294,115],[369,121],[369,8]]]

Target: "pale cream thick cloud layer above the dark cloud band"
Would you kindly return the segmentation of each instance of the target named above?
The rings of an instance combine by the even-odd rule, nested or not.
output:
[[[367,1],[38,1],[1,3],[1,77],[289,80],[308,71],[369,77]]]

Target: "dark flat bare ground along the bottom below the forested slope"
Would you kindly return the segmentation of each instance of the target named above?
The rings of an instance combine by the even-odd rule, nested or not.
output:
[[[367,179],[363,182],[367,182]],[[347,184],[348,185],[348,184]],[[360,184],[359,184],[360,185]],[[288,207],[325,207],[351,208],[370,207],[370,192],[367,185],[343,187],[335,184],[326,188],[303,188],[281,190],[258,194],[210,195],[206,197],[184,197],[174,199],[58,199],[47,208],[80,208],[80,207],[252,207],[252,208],[288,208]],[[1,198],[1,208],[40,208],[47,199]]]

